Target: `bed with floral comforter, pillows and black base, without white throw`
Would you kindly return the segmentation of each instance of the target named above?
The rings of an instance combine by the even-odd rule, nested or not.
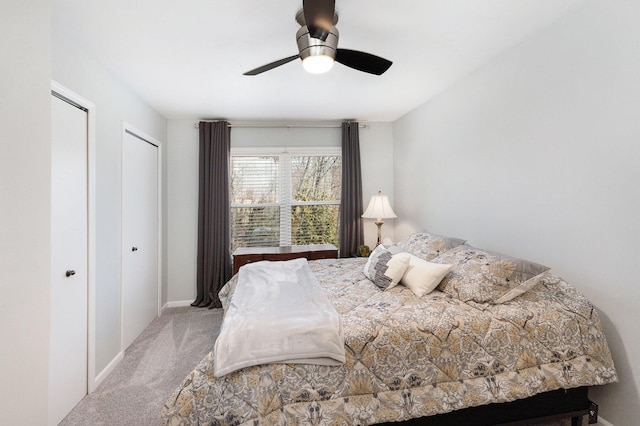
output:
[[[381,285],[375,273],[407,253],[399,282]],[[587,387],[617,381],[594,306],[543,265],[426,231],[372,257],[308,262],[342,319],[344,364],[216,377],[210,353],[167,399],[163,424],[507,423],[582,415]],[[220,292],[225,313],[237,278]]]

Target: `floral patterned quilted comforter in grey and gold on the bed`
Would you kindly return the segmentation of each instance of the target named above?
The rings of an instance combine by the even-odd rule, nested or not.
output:
[[[343,366],[268,364],[216,378],[209,354],[166,401],[163,423],[366,425],[617,380],[596,310],[557,276],[492,305],[440,291],[418,298],[402,285],[382,292],[364,262],[309,262],[342,315]]]

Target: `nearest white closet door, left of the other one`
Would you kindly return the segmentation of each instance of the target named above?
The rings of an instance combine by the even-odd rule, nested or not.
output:
[[[87,394],[87,112],[51,97],[49,424]]]

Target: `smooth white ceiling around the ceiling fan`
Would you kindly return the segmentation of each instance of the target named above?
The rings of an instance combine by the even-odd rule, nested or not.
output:
[[[54,0],[62,31],[166,118],[393,121],[584,0],[337,0],[339,47],[393,61],[382,76],[307,74],[301,0]]]

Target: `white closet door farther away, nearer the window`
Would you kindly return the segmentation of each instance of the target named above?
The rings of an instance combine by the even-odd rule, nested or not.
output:
[[[123,349],[158,315],[158,146],[125,130],[122,175]]]

